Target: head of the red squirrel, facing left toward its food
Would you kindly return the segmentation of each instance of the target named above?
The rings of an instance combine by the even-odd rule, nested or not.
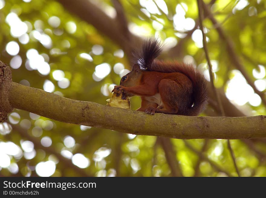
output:
[[[140,69],[138,64],[135,64],[131,72],[127,73],[120,80],[120,85],[124,87],[132,87],[140,84],[143,70]]]

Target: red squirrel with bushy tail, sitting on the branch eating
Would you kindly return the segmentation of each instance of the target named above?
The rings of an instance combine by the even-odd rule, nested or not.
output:
[[[135,52],[137,59],[131,72],[121,78],[112,92],[129,97],[141,96],[143,111],[177,115],[199,115],[207,104],[207,88],[203,74],[192,64],[155,59],[162,52],[157,40],[147,40]]]

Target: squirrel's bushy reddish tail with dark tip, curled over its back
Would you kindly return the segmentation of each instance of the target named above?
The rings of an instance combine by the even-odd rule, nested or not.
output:
[[[208,100],[206,80],[203,74],[192,64],[154,60],[161,51],[161,44],[157,40],[150,39],[144,42],[141,52],[134,55],[142,70],[164,73],[180,72],[186,75],[193,83],[194,102],[194,105],[187,109],[186,115],[199,115],[205,109]]]

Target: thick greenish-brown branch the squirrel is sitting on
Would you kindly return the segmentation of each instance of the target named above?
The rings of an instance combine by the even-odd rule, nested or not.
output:
[[[112,129],[136,135],[178,139],[246,139],[266,137],[266,116],[197,117],[167,115],[77,101],[11,83],[12,107],[66,123]]]

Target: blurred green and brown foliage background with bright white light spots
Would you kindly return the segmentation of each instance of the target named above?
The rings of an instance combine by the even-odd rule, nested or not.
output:
[[[225,114],[265,115],[265,1],[204,2],[204,31]],[[192,63],[209,81],[196,1],[0,0],[0,60],[12,68],[13,81],[67,98],[105,105],[131,68],[131,50],[147,37],[164,43],[161,59]],[[133,97],[131,109],[139,106]],[[219,116],[214,98],[201,115]],[[266,176],[266,139],[231,145],[241,176]],[[0,124],[0,175],[237,173],[226,140],[122,134],[15,109]]]

